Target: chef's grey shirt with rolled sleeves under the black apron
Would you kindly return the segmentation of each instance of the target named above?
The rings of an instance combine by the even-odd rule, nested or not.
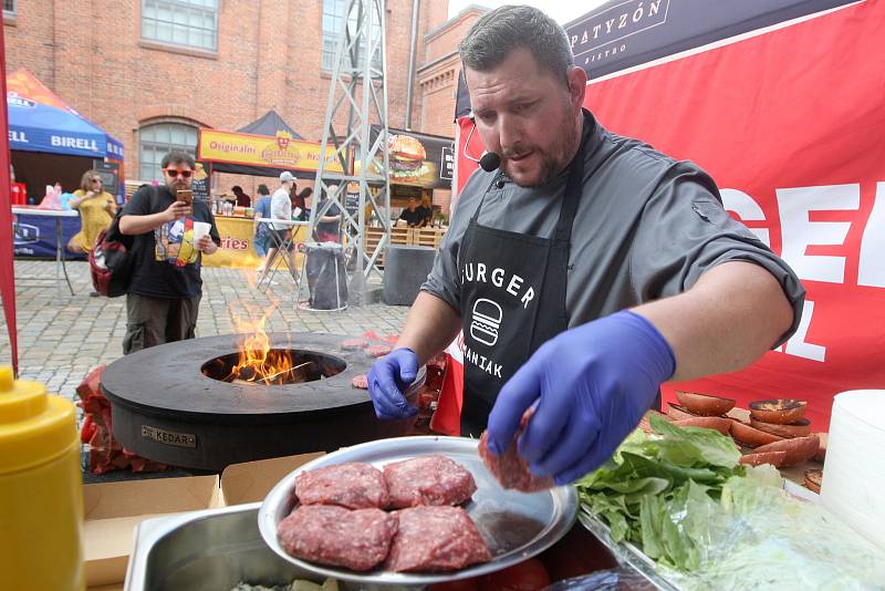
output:
[[[726,212],[712,178],[690,162],[677,162],[598,123],[590,133],[572,228],[569,326],[681,293],[708,269],[741,260],[763,267],[783,288],[794,317],[781,342],[787,340],[799,325],[805,291],[783,260]],[[566,173],[534,188],[519,187],[506,176],[499,188],[496,175],[478,169],[470,177],[421,286],[455,310],[460,310],[460,246],[483,195],[478,218],[483,226],[543,238],[555,229]],[[488,261],[493,265],[494,253]]]

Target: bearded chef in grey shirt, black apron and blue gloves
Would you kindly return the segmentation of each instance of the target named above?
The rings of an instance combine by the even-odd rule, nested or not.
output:
[[[459,50],[501,164],[468,180],[369,393],[379,418],[414,414],[404,387],[462,331],[461,435],[488,428],[500,454],[534,406],[518,450],[571,483],[612,456],[663,382],[736,371],[784,342],[804,290],[704,170],[582,108],[586,74],[544,13],[496,9]]]

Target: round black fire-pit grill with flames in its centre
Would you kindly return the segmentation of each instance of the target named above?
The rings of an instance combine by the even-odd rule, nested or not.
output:
[[[102,376],[114,436],[156,462],[220,470],[239,462],[332,452],[409,428],[409,421],[378,421],[368,393],[351,385],[374,359],[362,349],[342,349],[345,336],[264,338],[264,361],[251,365],[242,364],[254,350],[242,348],[241,334],[167,343],[115,361]],[[278,355],[288,360],[282,366]],[[421,367],[407,392],[410,404],[417,404],[424,379]]]

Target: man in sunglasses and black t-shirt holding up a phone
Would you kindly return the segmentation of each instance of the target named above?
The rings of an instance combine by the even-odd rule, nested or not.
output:
[[[221,239],[209,206],[194,200],[194,158],[179,151],[163,157],[165,184],[139,188],[123,208],[119,231],[134,236],[134,269],[126,294],[123,354],[192,339],[202,280],[201,253],[218,250]],[[209,234],[195,239],[200,222]]]

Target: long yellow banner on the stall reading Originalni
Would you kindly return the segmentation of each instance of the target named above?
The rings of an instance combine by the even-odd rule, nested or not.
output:
[[[198,160],[267,166],[270,168],[294,168],[316,170],[320,167],[320,144],[292,139],[287,132],[277,132],[277,137],[200,129]],[[344,173],[335,157],[335,147],[325,151],[325,169]]]

